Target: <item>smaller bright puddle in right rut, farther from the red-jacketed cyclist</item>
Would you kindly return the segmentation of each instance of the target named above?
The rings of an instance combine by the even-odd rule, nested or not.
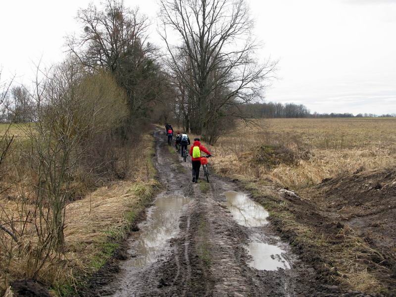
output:
[[[282,256],[282,253],[285,253],[285,251],[280,247],[262,242],[252,242],[247,246],[247,251],[253,257],[253,260],[248,264],[258,270],[291,268],[289,262]]]

